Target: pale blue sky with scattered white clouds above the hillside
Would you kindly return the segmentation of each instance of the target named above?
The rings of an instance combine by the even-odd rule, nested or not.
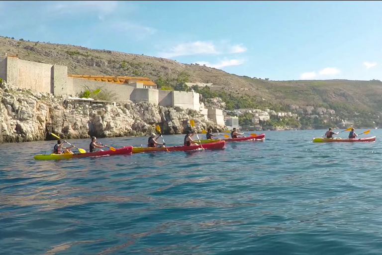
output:
[[[381,1],[0,1],[0,35],[271,80],[382,80]]]

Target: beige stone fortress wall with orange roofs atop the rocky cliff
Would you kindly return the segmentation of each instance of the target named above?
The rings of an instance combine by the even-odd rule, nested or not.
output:
[[[8,86],[31,89],[53,95],[76,97],[85,87],[102,88],[114,93],[119,102],[149,102],[163,107],[182,107],[205,114],[205,118],[224,126],[223,114],[219,109],[204,109],[199,103],[199,94],[184,91],[157,90],[148,78],[144,81],[129,80],[128,83],[106,82],[102,76],[68,75],[68,67],[21,60],[15,57],[0,57],[0,79]],[[155,86],[153,86],[155,85]],[[155,88],[155,89],[151,89]]]

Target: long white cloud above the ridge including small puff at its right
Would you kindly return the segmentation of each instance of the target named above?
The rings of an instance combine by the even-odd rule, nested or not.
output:
[[[242,53],[245,51],[247,51],[247,48],[242,44],[229,45],[228,42],[222,41],[221,43],[215,45],[211,41],[195,41],[180,43],[168,50],[159,52],[158,55],[164,58],[172,58],[190,55]]]

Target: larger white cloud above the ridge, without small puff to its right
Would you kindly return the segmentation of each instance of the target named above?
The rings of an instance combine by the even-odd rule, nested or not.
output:
[[[212,42],[188,42],[180,43],[172,47],[167,52],[160,52],[159,56],[164,58],[172,58],[177,56],[198,55],[198,54],[219,54]]]

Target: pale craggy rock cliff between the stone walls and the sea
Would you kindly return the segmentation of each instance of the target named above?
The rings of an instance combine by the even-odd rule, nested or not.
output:
[[[207,127],[214,131],[224,130],[191,109],[166,108],[150,103],[92,105],[49,93],[9,88],[2,82],[0,142],[52,139],[49,131],[63,138],[145,135],[155,132],[157,124],[163,134],[180,134],[191,129],[191,119],[198,132]]]

